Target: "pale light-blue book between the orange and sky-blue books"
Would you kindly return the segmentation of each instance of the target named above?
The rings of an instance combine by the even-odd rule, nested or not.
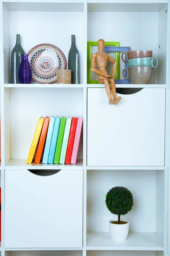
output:
[[[54,128],[54,121],[55,121],[55,117],[50,117],[42,163],[48,162],[48,155],[49,155],[49,151],[50,151],[51,139],[52,139],[53,128]]]

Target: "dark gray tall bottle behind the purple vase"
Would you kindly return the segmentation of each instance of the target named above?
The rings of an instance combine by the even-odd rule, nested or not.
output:
[[[20,84],[18,71],[21,64],[21,54],[25,54],[20,45],[20,35],[17,34],[16,44],[11,52],[11,84]]]

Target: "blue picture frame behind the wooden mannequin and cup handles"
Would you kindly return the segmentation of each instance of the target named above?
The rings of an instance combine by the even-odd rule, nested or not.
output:
[[[127,52],[130,51],[130,47],[114,47],[114,46],[105,46],[104,47],[104,52]],[[126,55],[125,55],[125,60],[126,60]],[[125,63],[125,68],[128,69],[128,62]],[[127,71],[125,70],[124,72],[125,77],[127,77]],[[129,84],[129,77],[127,79],[115,79],[115,84]]]

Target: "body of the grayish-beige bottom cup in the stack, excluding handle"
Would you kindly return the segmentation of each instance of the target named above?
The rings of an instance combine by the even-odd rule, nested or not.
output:
[[[129,67],[128,72],[132,84],[148,84],[152,78],[153,67]]]

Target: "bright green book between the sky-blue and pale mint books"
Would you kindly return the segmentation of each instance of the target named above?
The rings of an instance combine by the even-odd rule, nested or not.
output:
[[[65,130],[65,122],[66,122],[66,117],[62,116],[60,125],[59,125],[59,134],[57,139],[56,151],[54,155],[54,163],[59,163],[59,157],[60,157],[61,148],[62,148],[62,140],[63,140],[64,130]]]

